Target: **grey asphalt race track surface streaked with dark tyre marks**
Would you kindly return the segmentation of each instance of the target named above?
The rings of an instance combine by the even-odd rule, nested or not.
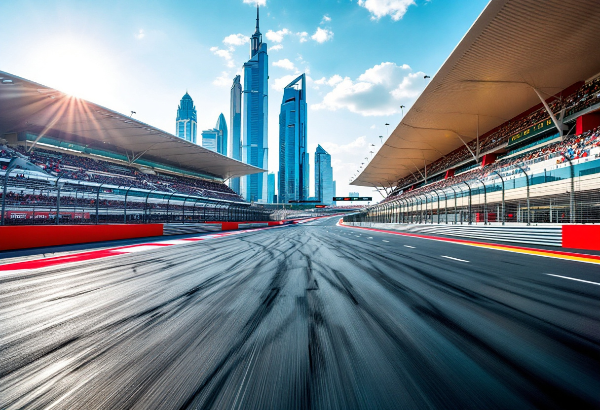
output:
[[[600,265],[336,221],[2,273],[0,408],[600,407]]]

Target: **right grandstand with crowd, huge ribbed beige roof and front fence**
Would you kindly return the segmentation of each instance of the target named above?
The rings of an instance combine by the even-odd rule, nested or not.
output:
[[[600,222],[598,23],[594,1],[491,1],[353,180],[386,194],[355,220]]]

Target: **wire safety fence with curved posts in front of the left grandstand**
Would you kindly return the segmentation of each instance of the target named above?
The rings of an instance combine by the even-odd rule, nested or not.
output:
[[[19,170],[0,177],[2,225],[198,224],[269,221],[259,204],[31,176]]]

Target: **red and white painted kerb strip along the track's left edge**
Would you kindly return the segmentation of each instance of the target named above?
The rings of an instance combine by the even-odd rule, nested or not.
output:
[[[4,273],[4,275],[8,275],[11,273],[20,273],[26,272],[32,269],[40,269],[48,266],[56,266],[65,263],[74,263],[74,262],[82,262],[89,261],[94,259],[107,258],[117,255],[127,255],[133,252],[145,252],[145,251],[156,251],[160,248],[166,248],[168,246],[173,245],[186,245],[193,242],[198,242],[200,240],[209,240],[209,239],[217,239],[226,236],[239,235],[242,233],[248,232],[257,232],[263,231],[266,229],[272,228],[280,228],[285,227],[287,225],[278,225],[275,227],[266,227],[266,228],[253,228],[253,229],[244,229],[239,231],[229,231],[223,233],[216,234],[206,234],[200,236],[193,236],[190,238],[183,239],[167,239],[160,240],[157,242],[148,242],[148,243],[137,243],[136,245],[127,245],[127,246],[118,246],[116,248],[109,249],[99,249],[98,251],[89,251],[89,252],[81,252],[79,254],[71,254],[64,255],[53,258],[44,258],[44,259],[35,259],[30,261],[21,261],[15,263],[8,263],[4,265],[0,265],[0,272]]]

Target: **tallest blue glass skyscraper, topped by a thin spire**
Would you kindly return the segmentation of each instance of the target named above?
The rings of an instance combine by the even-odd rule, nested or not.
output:
[[[242,161],[265,169],[268,164],[268,65],[266,44],[259,31],[259,11],[256,7],[256,31],[250,38],[250,60],[244,63],[242,90]],[[247,201],[265,202],[267,173],[240,178],[240,194]]]

